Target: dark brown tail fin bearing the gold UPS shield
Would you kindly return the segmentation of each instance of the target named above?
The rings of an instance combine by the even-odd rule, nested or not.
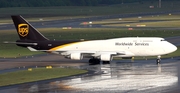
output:
[[[11,16],[21,40],[44,41],[48,40],[22,16]]]

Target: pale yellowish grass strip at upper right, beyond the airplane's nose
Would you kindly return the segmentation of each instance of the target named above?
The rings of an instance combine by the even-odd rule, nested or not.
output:
[[[131,18],[116,18],[100,21],[93,21],[88,25],[99,24],[102,26],[112,27],[180,27],[180,15],[179,14],[164,14],[156,16],[143,16],[143,17],[131,17]],[[83,23],[81,23],[83,25]],[[141,26],[143,25],[143,26]]]

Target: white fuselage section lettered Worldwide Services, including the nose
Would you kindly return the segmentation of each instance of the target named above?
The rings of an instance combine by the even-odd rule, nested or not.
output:
[[[74,51],[82,53],[117,54],[119,57],[158,56],[177,50],[173,44],[158,37],[128,37],[107,40],[92,40],[73,43],[56,51]],[[118,55],[119,54],[119,55]]]

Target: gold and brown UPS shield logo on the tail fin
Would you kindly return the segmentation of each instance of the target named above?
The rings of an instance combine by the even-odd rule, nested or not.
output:
[[[22,37],[27,36],[29,33],[29,25],[28,24],[19,24],[18,25],[18,33]]]

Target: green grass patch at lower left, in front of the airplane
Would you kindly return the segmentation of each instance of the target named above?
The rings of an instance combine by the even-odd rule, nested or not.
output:
[[[0,74],[0,86],[21,84],[47,79],[67,77],[86,73],[86,70],[72,68],[35,68]]]

